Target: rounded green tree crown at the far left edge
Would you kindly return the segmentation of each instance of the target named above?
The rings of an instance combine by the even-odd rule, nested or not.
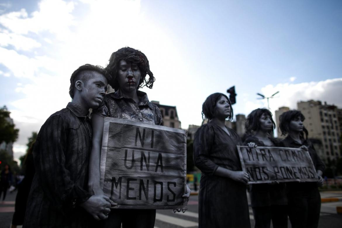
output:
[[[15,142],[18,139],[19,129],[16,129],[14,124],[7,121],[10,113],[6,106],[0,108],[0,143]]]

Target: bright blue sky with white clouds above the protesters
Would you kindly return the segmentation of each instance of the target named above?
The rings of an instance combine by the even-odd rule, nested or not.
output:
[[[129,46],[156,77],[150,100],[176,105],[182,127],[235,85],[235,114],[322,100],[342,107],[342,1],[0,1],[0,105],[25,152],[31,131],[70,101],[71,73]]]

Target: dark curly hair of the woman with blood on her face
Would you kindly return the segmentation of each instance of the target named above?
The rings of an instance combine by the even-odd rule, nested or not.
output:
[[[117,81],[117,74],[120,65],[120,61],[124,60],[126,62],[136,64],[140,69],[140,81],[137,89],[142,88],[144,86],[152,89],[153,83],[156,80],[153,76],[153,73],[149,69],[149,63],[146,55],[142,53],[140,50],[136,50],[130,47],[120,48],[116,52],[113,52],[110,56],[109,63],[106,66],[106,70],[111,75],[112,79],[109,82],[109,85],[116,90],[119,88],[119,83]],[[146,75],[148,74],[149,78],[146,80]]]

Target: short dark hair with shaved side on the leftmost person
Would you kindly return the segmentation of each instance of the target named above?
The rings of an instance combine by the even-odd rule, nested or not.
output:
[[[84,71],[95,71],[103,76],[106,77],[107,81],[109,81],[110,75],[107,73],[107,71],[102,67],[98,65],[91,65],[91,64],[84,64],[77,68],[76,71],[71,75],[70,77],[70,88],[69,88],[69,94],[71,98],[74,98],[74,90],[75,90],[75,83],[77,80],[84,80],[83,82],[87,81],[89,78],[91,78],[91,74],[81,74],[81,72]]]

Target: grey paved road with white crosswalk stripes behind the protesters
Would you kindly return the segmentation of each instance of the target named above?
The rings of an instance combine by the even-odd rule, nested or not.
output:
[[[8,193],[6,200],[0,201],[0,228],[9,228],[14,212],[14,200],[16,193]],[[340,228],[342,215],[337,214],[336,206],[342,206],[342,191],[321,192],[322,198],[338,198],[338,202],[322,203],[319,219],[320,228]],[[251,225],[254,227],[253,213],[250,208]],[[157,210],[155,228],[195,228],[198,227],[198,197],[192,195],[188,203],[188,211],[173,213],[172,210]],[[289,226],[291,227],[290,223]]]

